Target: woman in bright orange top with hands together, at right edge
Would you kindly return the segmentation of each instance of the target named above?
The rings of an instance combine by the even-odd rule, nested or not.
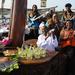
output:
[[[60,32],[60,41],[62,47],[72,46],[72,38],[74,37],[74,30],[72,29],[72,22],[66,21],[66,25]]]

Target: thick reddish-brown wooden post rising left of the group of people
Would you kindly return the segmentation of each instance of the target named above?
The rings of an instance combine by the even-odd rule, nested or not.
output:
[[[14,46],[21,46],[26,23],[27,0],[13,0],[9,38]]]

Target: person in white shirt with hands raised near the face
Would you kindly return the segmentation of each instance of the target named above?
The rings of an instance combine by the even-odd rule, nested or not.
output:
[[[37,46],[50,52],[55,51],[55,48],[58,47],[58,41],[54,35],[54,29],[46,29],[44,34],[39,35]]]

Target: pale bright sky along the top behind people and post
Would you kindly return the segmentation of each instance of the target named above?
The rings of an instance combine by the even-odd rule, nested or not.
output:
[[[2,0],[0,0],[0,7],[1,7],[1,1]],[[11,8],[12,1],[13,0],[5,0],[4,8]],[[31,8],[33,4],[36,4],[38,8],[41,8],[40,3],[41,3],[41,0],[27,0],[27,8]],[[75,0],[47,0],[46,8],[58,6],[56,10],[60,11],[60,10],[65,9],[66,3],[71,3],[72,9],[75,9]]]

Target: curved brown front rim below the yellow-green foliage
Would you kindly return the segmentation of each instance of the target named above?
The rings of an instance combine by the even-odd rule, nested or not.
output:
[[[20,58],[19,62],[22,64],[41,64],[44,62],[47,62],[49,60],[51,60],[53,57],[55,57],[58,54],[58,52],[49,52],[48,56],[44,57],[44,58],[40,58],[40,59],[24,59],[24,58]]]

